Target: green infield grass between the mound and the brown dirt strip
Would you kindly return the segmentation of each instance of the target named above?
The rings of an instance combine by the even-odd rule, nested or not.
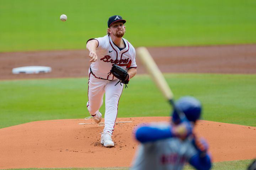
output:
[[[256,126],[256,75],[165,74],[176,99],[202,101],[203,119]],[[86,109],[87,78],[0,81],[0,128],[36,120],[76,119]],[[169,116],[171,107],[148,75],[123,90],[118,117]],[[105,113],[105,106],[101,113]]]

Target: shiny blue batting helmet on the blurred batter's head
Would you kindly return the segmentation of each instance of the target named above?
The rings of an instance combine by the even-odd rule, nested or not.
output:
[[[200,118],[202,110],[201,102],[192,96],[181,97],[177,102],[175,102],[175,106],[186,115],[189,121],[195,122]],[[174,123],[181,121],[175,110],[172,112],[172,121]]]

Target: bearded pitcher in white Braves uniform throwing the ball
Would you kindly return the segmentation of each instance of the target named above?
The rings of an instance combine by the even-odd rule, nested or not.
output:
[[[101,143],[105,147],[113,147],[112,133],[117,118],[118,101],[124,84],[137,73],[135,49],[123,37],[126,20],[119,15],[108,19],[107,35],[89,39],[86,49],[89,50],[91,66],[89,69],[87,109],[96,123],[101,121],[100,107],[105,93],[105,127],[101,133]],[[125,77],[117,79],[113,67],[122,67]],[[115,77],[116,76],[116,77]],[[121,82],[120,82],[121,81]],[[119,83],[120,82],[120,83]],[[87,118],[87,119],[88,119]]]

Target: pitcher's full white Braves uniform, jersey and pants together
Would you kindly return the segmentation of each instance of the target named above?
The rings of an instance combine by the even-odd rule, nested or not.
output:
[[[113,64],[121,66],[126,70],[129,68],[137,68],[135,49],[124,38],[123,41],[126,47],[121,51],[113,43],[109,35],[96,38],[95,40],[98,41],[98,47],[96,49],[98,60],[93,62],[90,67],[91,70],[89,69],[89,102],[87,109],[91,115],[96,115],[103,104],[103,96],[105,94],[106,110],[105,127],[103,131],[112,134],[117,118],[118,101],[122,94],[123,86],[120,83],[117,84],[119,80],[110,73],[110,70]]]

